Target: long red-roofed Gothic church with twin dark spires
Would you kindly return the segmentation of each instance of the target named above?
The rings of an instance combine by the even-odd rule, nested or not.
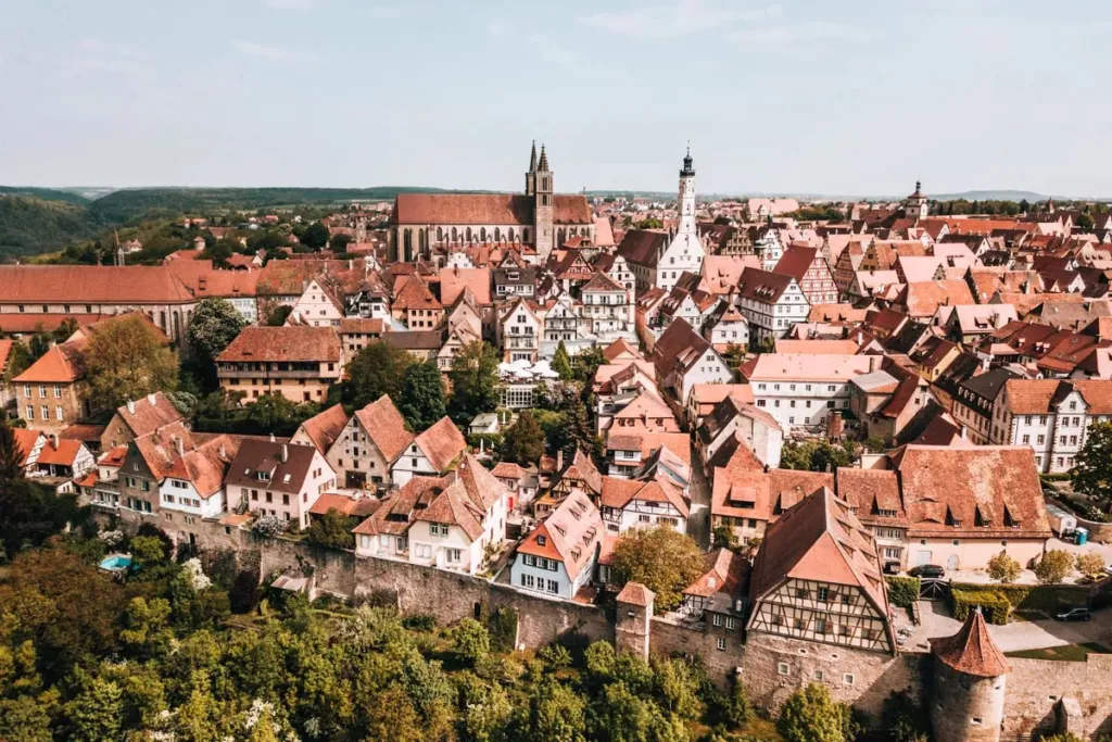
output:
[[[390,260],[433,259],[453,247],[505,246],[543,264],[572,237],[594,239],[584,196],[555,192],[548,152],[529,152],[524,194],[399,194],[389,225]]]

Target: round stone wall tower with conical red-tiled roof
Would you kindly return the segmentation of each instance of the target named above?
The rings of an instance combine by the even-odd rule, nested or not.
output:
[[[953,636],[931,640],[934,692],[931,725],[937,742],[1000,742],[1007,661],[989,635],[981,610]]]

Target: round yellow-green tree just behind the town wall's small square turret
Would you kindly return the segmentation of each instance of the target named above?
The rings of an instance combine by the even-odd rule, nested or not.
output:
[[[703,552],[695,541],[666,525],[634,528],[614,545],[618,582],[639,582],[656,593],[656,611],[679,606],[683,591],[703,574]]]

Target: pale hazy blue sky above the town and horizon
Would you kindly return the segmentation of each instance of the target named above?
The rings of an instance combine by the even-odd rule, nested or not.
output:
[[[657,4],[659,3],[659,4]],[[1109,0],[0,0],[0,184],[1112,195]]]

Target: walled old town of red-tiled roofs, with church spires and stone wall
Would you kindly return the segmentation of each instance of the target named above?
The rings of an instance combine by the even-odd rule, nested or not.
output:
[[[19,476],[256,586],[698,655],[773,715],[1112,732],[1112,211],[712,201],[679,155],[666,202],[534,146],[519,192],[2,265]]]

